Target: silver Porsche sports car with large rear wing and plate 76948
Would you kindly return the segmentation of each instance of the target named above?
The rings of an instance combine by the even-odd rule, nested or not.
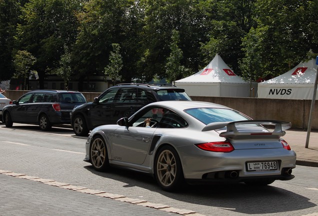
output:
[[[84,160],[98,171],[117,166],[150,173],[168,191],[182,182],[267,185],[294,177],[296,154],[280,138],[289,127],[215,103],[160,101],[94,128]]]

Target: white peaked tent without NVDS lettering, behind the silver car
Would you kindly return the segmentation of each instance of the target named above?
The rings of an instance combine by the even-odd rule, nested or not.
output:
[[[249,83],[237,76],[218,54],[197,73],[176,80],[175,85],[184,88],[190,96],[250,95]]]

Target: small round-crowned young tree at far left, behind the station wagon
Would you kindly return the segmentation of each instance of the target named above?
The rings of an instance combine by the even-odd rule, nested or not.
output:
[[[24,90],[28,89],[27,81],[31,72],[30,68],[35,62],[36,58],[26,50],[18,50],[14,56],[13,64],[16,72],[14,73],[13,77],[24,79]]]

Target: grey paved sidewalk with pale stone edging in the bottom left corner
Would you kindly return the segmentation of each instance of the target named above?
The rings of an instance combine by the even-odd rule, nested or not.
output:
[[[45,181],[48,179],[40,179],[41,182],[14,176],[12,172],[9,174],[0,173],[1,216],[180,215],[171,211],[181,209],[162,204],[151,206],[153,203],[149,204],[145,200],[132,200],[118,194],[94,194],[97,191],[83,187],[67,189],[66,187],[70,185],[52,185]],[[151,207],[148,207],[149,205]],[[160,210],[160,207],[164,209]],[[193,216],[198,215],[194,212],[184,210],[183,212],[192,213]]]

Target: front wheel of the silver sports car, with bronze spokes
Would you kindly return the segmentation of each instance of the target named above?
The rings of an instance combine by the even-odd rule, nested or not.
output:
[[[95,170],[106,171],[109,169],[108,151],[105,140],[101,135],[96,135],[92,138],[89,148],[89,159]]]

